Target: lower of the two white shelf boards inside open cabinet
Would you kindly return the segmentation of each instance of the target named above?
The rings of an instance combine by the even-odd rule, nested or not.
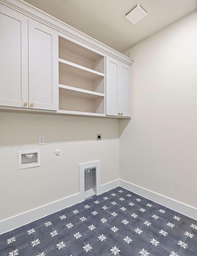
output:
[[[67,95],[72,95],[72,96],[81,96],[83,98],[88,98],[88,99],[95,99],[97,97],[105,97],[104,93],[97,93],[94,91],[90,91],[90,90],[84,90],[81,88],[77,88],[77,87],[72,87],[72,86],[68,86],[68,85],[63,85],[63,84],[59,84],[59,88],[62,88],[62,93],[64,93],[65,90],[65,94]]]

